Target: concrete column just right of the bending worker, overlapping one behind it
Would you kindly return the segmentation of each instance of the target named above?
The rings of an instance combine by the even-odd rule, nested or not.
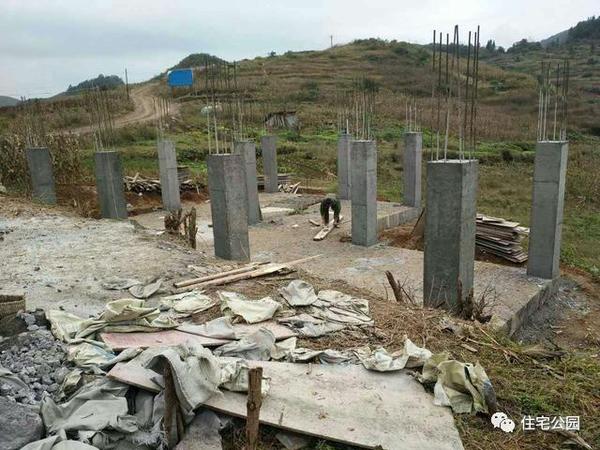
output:
[[[377,147],[375,141],[352,141],[352,243],[377,243]]]

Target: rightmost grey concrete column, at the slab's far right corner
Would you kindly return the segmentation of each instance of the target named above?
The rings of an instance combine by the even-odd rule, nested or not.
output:
[[[538,142],[536,146],[528,275],[553,279],[560,274],[560,241],[568,154],[567,142]]]

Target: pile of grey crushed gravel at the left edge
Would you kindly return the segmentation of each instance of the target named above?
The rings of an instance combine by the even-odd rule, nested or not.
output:
[[[0,342],[0,366],[10,370],[29,389],[15,391],[0,379],[0,396],[18,403],[36,404],[47,394],[58,394],[69,369],[67,349],[50,331],[29,326],[31,331]]]

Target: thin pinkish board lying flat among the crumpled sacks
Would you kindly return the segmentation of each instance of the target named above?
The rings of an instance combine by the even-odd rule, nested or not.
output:
[[[168,347],[192,342],[204,347],[217,347],[228,340],[196,336],[183,331],[167,330],[153,333],[100,333],[100,339],[115,351],[127,348]]]

